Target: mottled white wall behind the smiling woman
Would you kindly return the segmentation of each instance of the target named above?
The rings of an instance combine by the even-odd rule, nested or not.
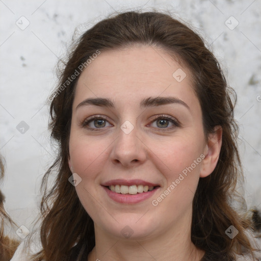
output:
[[[0,154],[6,162],[1,189],[18,225],[31,228],[40,181],[53,161],[45,102],[56,83],[58,58],[82,23],[90,27],[112,12],[140,8],[171,11],[211,45],[238,94],[246,199],[261,208],[260,0],[1,0]]]

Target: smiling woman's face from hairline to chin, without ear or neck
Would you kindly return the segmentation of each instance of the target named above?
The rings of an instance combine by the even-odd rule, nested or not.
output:
[[[95,229],[141,239],[188,228],[206,146],[191,73],[161,49],[101,51],[81,74],[69,165]]]

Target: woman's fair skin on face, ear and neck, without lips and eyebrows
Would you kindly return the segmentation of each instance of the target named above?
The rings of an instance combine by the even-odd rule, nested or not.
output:
[[[172,76],[178,68],[187,74],[181,82]],[[180,103],[141,109],[140,101],[150,96],[174,96],[189,109]],[[76,109],[85,99],[97,97],[110,98],[115,108]],[[176,119],[179,126],[153,118],[162,114]],[[81,124],[93,115],[107,117],[103,127],[94,121]],[[129,134],[120,128],[125,121],[134,126]],[[69,142],[69,166],[82,178],[75,189],[94,221],[96,246],[88,260],[200,260],[204,251],[191,242],[192,200],[199,178],[210,175],[217,164],[221,136],[217,126],[205,140],[191,73],[163,50],[132,46],[102,51],[77,83]],[[152,205],[201,154],[204,160],[158,205]],[[117,203],[101,186],[117,178],[143,179],[160,189],[137,204]],[[133,231],[130,238],[121,233],[126,225]]]

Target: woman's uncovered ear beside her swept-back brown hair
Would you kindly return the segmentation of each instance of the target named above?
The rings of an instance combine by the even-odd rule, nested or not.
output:
[[[201,165],[200,177],[210,175],[217,166],[222,144],[222,127],[216,126],[214,133],[208,135],[207,144],[204,149],[205,158]]]

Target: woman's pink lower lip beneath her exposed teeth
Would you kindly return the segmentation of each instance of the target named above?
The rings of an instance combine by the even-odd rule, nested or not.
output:
[[[109,190],[107,187],[104,187],[104,186],[102,186],[102,187],[103,187],[103,189],[105,189],[108,196],[112,200],[114,200],[118,203],[123,203],[123,204],[136,204],[136,203],[139,203],[141,201],[144,201],[144,200],[150,198],[155,193],[155,191],[159,189],[159,187],[156,187],[152,191],[137,193],[137,194],[131,195],[131,194],[116,193],[116,192]]]

